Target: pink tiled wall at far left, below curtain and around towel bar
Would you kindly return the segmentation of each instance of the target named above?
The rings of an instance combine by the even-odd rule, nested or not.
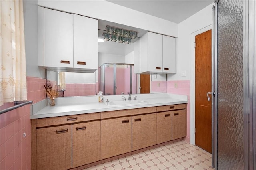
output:
[[[28,100],[37,103],[45,99],[45,84],[46,79],[27,77]],[[13,103],[4,103],[0,109],[11,106]],[[30,105],[0,115],[0,170],[8,169],[31,169]]]

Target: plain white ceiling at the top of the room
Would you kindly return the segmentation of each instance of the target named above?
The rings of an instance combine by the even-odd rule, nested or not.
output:
[[[174,23],[196,14],[214,0],[107,0]]]

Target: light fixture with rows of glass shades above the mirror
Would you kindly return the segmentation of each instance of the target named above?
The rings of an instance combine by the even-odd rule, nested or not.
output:
[[[131,43],[131,39],[138,36],[138,32],[132,30],[125,30],[113,26],[106,26],[106,32],[102,34],[105,41],[111,40],[112,42]]]

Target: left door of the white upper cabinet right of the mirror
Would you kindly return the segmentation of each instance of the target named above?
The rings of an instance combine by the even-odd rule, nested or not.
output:
[[[148,32],[148,71],[162,72],[163,36]]]

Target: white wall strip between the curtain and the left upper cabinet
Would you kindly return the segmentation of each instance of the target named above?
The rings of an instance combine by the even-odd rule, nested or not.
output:
[[[44,69],[37,66],[37,0],[23,0],[27,76],[45,78]]]

